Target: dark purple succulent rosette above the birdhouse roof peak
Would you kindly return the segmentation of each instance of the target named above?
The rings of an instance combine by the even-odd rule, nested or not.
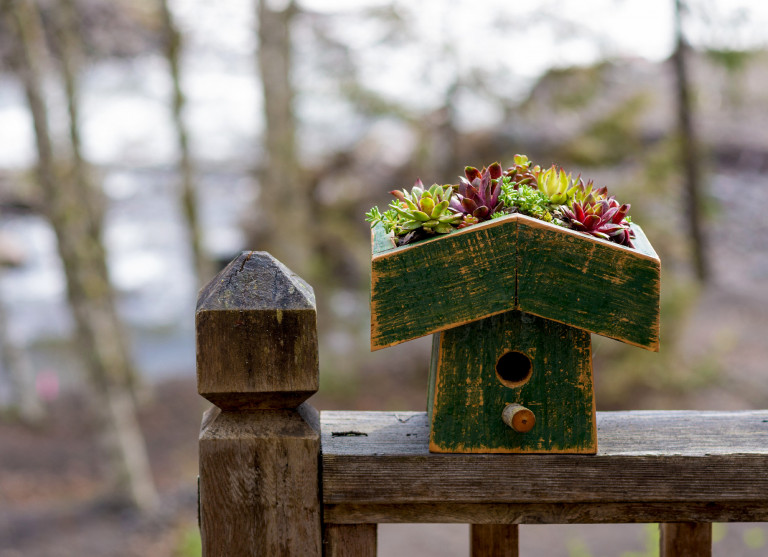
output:
[[[499,200],[501,175],[501,165],[497,162],[482,170],[467,166],[458,191],[451,199],[451,209],[462,215],[471,215],[478,222],[490,219],[492,214],[504,207]]]

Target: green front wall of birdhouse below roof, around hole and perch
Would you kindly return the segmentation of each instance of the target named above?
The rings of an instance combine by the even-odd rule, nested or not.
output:
[[[430,372],[430,450],[594,453],[597,450],[589,333],[519,311],[439,333]],[[506,387],[496,362],[508,351],[532,362],[530,379]],[[507,403],[533,411],[517,433],[501,419]]]

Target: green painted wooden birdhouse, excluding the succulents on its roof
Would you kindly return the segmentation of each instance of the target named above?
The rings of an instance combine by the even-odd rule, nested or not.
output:
[[[659,258],[520,214],[396,247],[373,229],[371,349],[433,335],[429,447],[595,453],[590,333],[658,350]]]

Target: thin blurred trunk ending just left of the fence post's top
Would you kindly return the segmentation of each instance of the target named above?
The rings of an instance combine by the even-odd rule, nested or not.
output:
[[[176,140],[179,148],[179,172],[181,174],[181,204],[187,230],[192,245],[192,255],[195,259],[195,272],[198,284],[207,283],[214,274],[213,262],[203,249],[203,234],[200,227],[200,217],[195,188],[194,165],[189,150],[189,134],[184,122],[184,106],[186,99],[181,88],[181,33],[176,27],[167,0],[160,0],[160,11],[165,35],[165,56],[173,81],[173,124],[176,128]]]

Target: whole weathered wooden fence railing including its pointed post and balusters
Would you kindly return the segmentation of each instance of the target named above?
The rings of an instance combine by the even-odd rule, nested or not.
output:
[[[518,524],[661,523],[661,555],[711,555],[712,522],[768,521],[768,411],[602,412],[597,455],[432,454],[423,412],[323,412],[311,289],[243,254],[202,292],[203,555],[376,554],[385,522],[469,523],[517,555]]]

